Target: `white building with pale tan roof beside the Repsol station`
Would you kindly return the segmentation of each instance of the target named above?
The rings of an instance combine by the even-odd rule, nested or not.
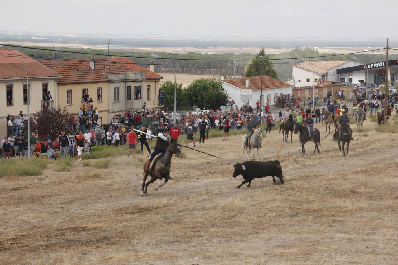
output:
[[[349,61],[302,62],[301,64],[293,65],[292,75],[296,87],[305,87],[313,84],[316,85],[318,81],[323,80],[338,82],[337,68],[347,68],[358,65],[361,64]]]

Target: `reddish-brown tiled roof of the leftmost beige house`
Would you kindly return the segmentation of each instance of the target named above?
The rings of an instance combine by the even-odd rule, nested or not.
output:
[[[21,57],[18,58],[18,56],[16,56],[14,52]],[[40,64],[36,60],[25,56],[25,54],[15,49],[0,49],[0,79],[26,77],[25,67],[23,66],[21,59],[26,65],[28,77],[30,78],[60,76],[59,74]]]

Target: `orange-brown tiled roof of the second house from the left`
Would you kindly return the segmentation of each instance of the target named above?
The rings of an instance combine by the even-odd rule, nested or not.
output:
[[[58,80],[59,85],[76,83],[98,83],[107,82],[109,78],[102,75],[90,66],[75,60],[38,60],[48,68],[54,70],[62,77]],[[76,70],[75,70],[75,69]]]

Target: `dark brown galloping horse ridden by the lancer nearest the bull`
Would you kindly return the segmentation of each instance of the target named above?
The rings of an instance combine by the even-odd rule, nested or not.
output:
[[[144,180],[142,181],[140,197],[142,197],[143,195],[148,195],[148,193],[146,193],[146,189],[148,188],[148,185],[155,180],[159,180],[159,183],[155,188],[155,190],[158,190],[158,188],[162,187],[166,182],[168,182],[168,180],[172,179],[170,178],[170,165],[173,154],[179,155],[181,154],[181,150],[176,144],[169,143],[162,157],[154,161],[152,168],[149,170],[148,175],[151,176],[151,179],[146,182],[146,178],[148,177],[148,175],[144,177]],[[162,178],[164,178],[164,181],[162,181]]]

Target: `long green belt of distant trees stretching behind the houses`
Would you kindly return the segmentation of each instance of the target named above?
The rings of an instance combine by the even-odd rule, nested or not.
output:
[[[43,47],[49,48],[49,47]],[[103,58],[107,57],[107,51],[96,50],[96,49],[79,49],[79,48],[60,48],[56,52],[45,51],[45,50],[33,50],[32,48],[18,48],[24,54],[33,53],[35,57],[44,58],[60,58],[60,59],[70,59],[70,58]],[[89,55],[89,54],[76,54],[76,53],[66,53],[61,51],[73,51],[73,52],[90,52],[98,53],[103,55]],[[125,52],[125,51],[112,51],[111,54],[121,55],[121,56],[139,56],[139,57],[152,57],[149,52]],[[156,52],[160,57],[170,58],[174,66],[176,73],[178,74],[199,74],[199,75],[215,75],[215,77],[225,76],[226,78],[233,78],[234,73],[234,61],[213,61],[214,59],[236,59],[247,61],[236,61],[236,75],[242,76],[246,69],[246,65],[250,64],[251,60],[256,56],[256,54],[242,53],[239,55],[233,53],[224,54],[197,54],[190,52],[187,54],[171,54],[166,52]],[[331,55],[330,57],[321,57]],[[302,57],[313,57],[310,59],[298,59]],[[319,57],[318,57],[319,56]],[[380,62],[385,60],[385,55],[374,55],[374,54],[349,54],[349,55],[338,55],[338,54],[320,54],[318,50],[314,49],[294,49],[290,52],[283,52],[280,54],[269,54],[270,60],[272,59],[284,59],[284,58],[297,58],[294,60],[273,60],[273,67],[278,74],[281,81],[288,81],[292,79],[292,66],[294,62],[303,62],[304,60],[348,60],[354,61],[353,57],[358,58],[364,63]],[[175,58],[179,59],[201,59],[201,60],[173,60]],[[150,58],[129,58],[133,62],[139,64],[142,67],[149,69]],[[159,58],[152,58],[152,60],[158,61],[159,65],[156,65],[155,72],[162,73],[172,73],[172,68],[164,60]],[[398,60],[398,55],[390,55],[390,60]],[[265,63],[270,63],[269,61]]]

